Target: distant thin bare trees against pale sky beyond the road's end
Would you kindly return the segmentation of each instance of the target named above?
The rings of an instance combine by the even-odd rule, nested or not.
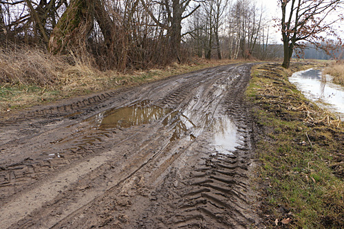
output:
[[[264,8],[250,0],[204,1],[191,15],[186,43],[205,58],[259,58],[282,56],[280,45],[269,42]]]

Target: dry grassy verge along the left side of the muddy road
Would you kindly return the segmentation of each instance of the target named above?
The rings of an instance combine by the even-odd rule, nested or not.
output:
[[[149,70],[101,72],[85,56],[52,56],[32,47],[0,49],[0,113],[227,63],[194,59]]]

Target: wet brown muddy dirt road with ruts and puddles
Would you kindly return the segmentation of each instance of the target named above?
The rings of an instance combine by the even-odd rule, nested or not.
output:
[[[1,228],[257,226],[251,66],[2,117]]]

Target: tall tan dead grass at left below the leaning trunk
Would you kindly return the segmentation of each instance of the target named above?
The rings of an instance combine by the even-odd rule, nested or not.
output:
[[[92,57],[73,52],[51,55],[40,47],[0,47],[0,85],[62,91],[103,89],[116,72],[101,72],[92,63]]]

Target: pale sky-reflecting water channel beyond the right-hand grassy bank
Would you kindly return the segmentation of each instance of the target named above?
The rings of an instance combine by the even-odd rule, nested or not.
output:
[[[331,83],[331,77],[326,76],[327,83],[321,82],[321,70],[308,69],[296,72],[289,80],[306,98],[316,102],[319,106],[334,111],[344,120],[344,88]]]

